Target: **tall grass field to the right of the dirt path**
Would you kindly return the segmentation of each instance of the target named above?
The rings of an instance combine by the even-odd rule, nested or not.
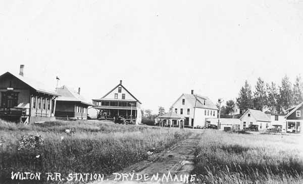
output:
[[[303,137],[206,130],[195,152],[201,183],[303,183]]]

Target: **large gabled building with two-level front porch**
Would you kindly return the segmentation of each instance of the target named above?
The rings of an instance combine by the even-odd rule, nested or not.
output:
[[[113,120],[115,117],[131,119],[140,124],[142,119],[141,102],[120,83],[100,99],[93,99],[93,108],[99,111],[99,119]]]

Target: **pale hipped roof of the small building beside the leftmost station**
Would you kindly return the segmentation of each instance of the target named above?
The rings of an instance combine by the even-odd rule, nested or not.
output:
[[[63,85],[57,89],[57,93],[61,95],[58,97],[57,101],[71,101],[71,102],[80,102],[92,106],[86,99],[79,95],[74,89],[69,88],[66,85]]]

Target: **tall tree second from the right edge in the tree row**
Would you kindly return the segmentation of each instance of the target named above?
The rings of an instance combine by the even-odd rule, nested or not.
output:
[[[292,85],[287,75],[282,78],[282,85],[279,87],[279,91],[278,106],[281,106],[282,110],[286,110],[293,105]]]

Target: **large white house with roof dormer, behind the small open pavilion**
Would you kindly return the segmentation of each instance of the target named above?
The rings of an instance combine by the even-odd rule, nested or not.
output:
[[[185,126],[204,127],[206,118],[217,117],[219,109],[208,97],[195,95],[191,90],[191,94],[182,94],[173,103],[171,110],[185,117]]]

